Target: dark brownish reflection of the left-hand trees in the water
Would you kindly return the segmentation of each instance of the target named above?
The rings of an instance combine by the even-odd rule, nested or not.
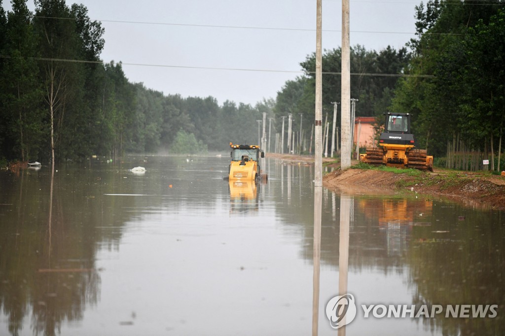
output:
[[[99,275],[93,242],[69,225],[72,200],[61,180],[54,170],[45,181],[32,172],[21,171],[19,185],[2,184],[2,203],[10,205],[2,211],[0,303],[11,334],[26,334],[31,315],[33,334],[54,335],[63,321],[81,319],[85,306],[96,304]]]

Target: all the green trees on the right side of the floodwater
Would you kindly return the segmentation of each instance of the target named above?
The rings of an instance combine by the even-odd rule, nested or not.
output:
[[[352,47],[350,89],[351,97],[359,99],[357,116],[411,113],[417,142],[430,154],[479,151],[499,170],[505,126],[504,6],[500,0],[429,0],[416,7],[416,38],[409,49]],[[340,49],[325,51],[323,110],[330,117],[331,102],[340,101],[340,64]],[[298,125],[300,114],[314,120],[315,55],[300,65],[306,75],[286,82],[274,108],[279,116],[292,113]],[[471,164],[467,159],[458,167]]]

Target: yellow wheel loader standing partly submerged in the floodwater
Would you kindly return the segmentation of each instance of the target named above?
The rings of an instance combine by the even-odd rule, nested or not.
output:
[[[259,160],[265,157],[265,152],[257,145],[234,145],[230,142],[231,163],[228,179],[241,181],[256,181],[261,178]]]

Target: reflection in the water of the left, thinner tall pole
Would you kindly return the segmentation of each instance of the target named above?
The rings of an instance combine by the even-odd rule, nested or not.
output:
[[[312,335],[318,334],[319,321],[319,282],[321,272],[321,217],[322,217],[322,188],[314,187],[314,276],[312,299]]]

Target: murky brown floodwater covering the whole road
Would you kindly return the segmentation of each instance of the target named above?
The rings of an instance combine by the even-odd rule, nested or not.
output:
[[[0,335],[327,335],[345,293],[357,314],[339,334],[505,332],[502,212],[315,190],[313,166],[274,159],[267,184],[234,184],[228,164],[0,172]],[[443,312],[380,317],[403,305]]]

